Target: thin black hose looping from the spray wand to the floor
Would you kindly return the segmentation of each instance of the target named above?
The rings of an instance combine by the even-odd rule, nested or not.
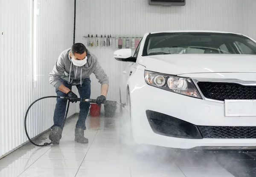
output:
[[[39,100],[42,100],[42,99],[45,99],[45,98],[60,98],[60,97],[59,97],[59,96],[48,96],[48,97],[41,97],[41,98],[35,100],[35,101],[29,106],[29,108],[27,109],[26,115],[25,115],[25,120],[24,120],[24,126],[25,126],[26,136],[28,137],[30,143],[32,143],[33,145],[38,146],[38,147],[48,146],[48,145],[52,144],[52,142],[51,142],[51,143],[44,143],[43,145],[38,145],[38,144],[34,143],[34,142],[30,139],[30,137],[29,137],[29,134],[28,134],[28,131],[27,131],[27,127],[26,127],[26,119],[27,119],[27,115],[28,115],[28,113],[29,113],[29,109],[33,106],[33,104],[35,104],[35,103],[38,102]],[[65,124],[66,119],[67,119],[67,113],[68,113],[69,105],[70,105],[70,100],[68,100],[68,103],[67,103],[67,111],[66,111],[66,115],[65,115],[65,118],[64,118],[63,127],[64,127],[64,124]]]

